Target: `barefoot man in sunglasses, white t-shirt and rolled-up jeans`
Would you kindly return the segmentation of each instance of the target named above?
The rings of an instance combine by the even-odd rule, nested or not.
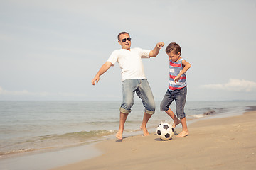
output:
[[[92,79],[92,85],[95,85],[95,81],[98,83],[100,76],[118,62],[122,71],[123,102],[120,107],[119,130],[116,137],[117,139],[122,140],[124,123],[134,104],[135,92],[139,98],[142,99],[145,108],[141,129],[143,130],[144,136],[148,136],[149,132],[146,129],[146,124],[148,123],[149,118],[151,118],[151,115],[154,114],[155,103],[151,88],[144,75],[142,58],[156,57],[156,55],[159,54],[161,47],[164,46],[164,42],[157,43],[156,47],[150,51],[142,50],[141,48],[131,49],[131,38],[127,32],[119,33],[117,39],[119,45],[122,46],[122,49],[114,50],[114,52],[112,52],[110,58],[102,65],[99,72],[97,72]]]

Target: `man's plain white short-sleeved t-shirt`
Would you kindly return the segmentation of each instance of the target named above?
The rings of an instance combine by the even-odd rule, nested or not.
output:
[[[126,79],[146,79],[142,58],[149,58],[150,50],[141,48],[131,48],[114,50],[110,55],[108,62],[115,64],[119,63],[122,81]]]

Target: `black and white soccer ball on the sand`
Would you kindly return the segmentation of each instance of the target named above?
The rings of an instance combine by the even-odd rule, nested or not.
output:
[[[156,134],[161,140],[170,140],[174,136],[174,128],[169,123],[161,123],[156,128]]]

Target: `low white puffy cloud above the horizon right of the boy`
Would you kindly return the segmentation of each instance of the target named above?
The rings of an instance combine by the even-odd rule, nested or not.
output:
[[[228,90],[228,91],[245,91],[252,92],[256,91],[256,82],[240,80],[240,79],[229,79],[228,83],[225,84],[206,84],[201,86],[204,89],[214,90]]]

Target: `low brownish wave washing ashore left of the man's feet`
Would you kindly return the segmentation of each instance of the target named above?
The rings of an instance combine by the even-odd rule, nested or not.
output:
[[[62,135],[43,135],[33,137],[29,140],[23,140],[9,144],[6,147],[0,147],[0,157],[9,154],[18,154],[22,152],[33,152],[42,149],[53,149],[58,147],[70,147],[82,145],[87,142],[102,140],[108,135],[114,134],[114,130],[91,130],[81,132],[68,132]]]

